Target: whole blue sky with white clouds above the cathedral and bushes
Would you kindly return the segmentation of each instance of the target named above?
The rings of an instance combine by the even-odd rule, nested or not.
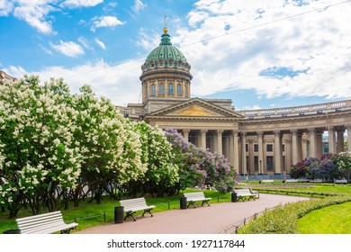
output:
[[[0,0],[0,69],[139,103],[165,23],[192,96],[238,109],[351,97],[351,0]]]

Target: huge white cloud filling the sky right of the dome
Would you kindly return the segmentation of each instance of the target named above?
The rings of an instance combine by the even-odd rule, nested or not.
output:
[[[172,37],[192,65],[193,96],[250,89],[268,98],[351,97],[351,85],[347,85],[351,31],[345,25],[351,23],[351,5],[311,12],[338,1],[297,3],[207,0],[194,4],[187,16],[190,28]],[[202,42],[193,44],[198,41]],[[270,67],[299,74],[281,79],[260,75]]]

